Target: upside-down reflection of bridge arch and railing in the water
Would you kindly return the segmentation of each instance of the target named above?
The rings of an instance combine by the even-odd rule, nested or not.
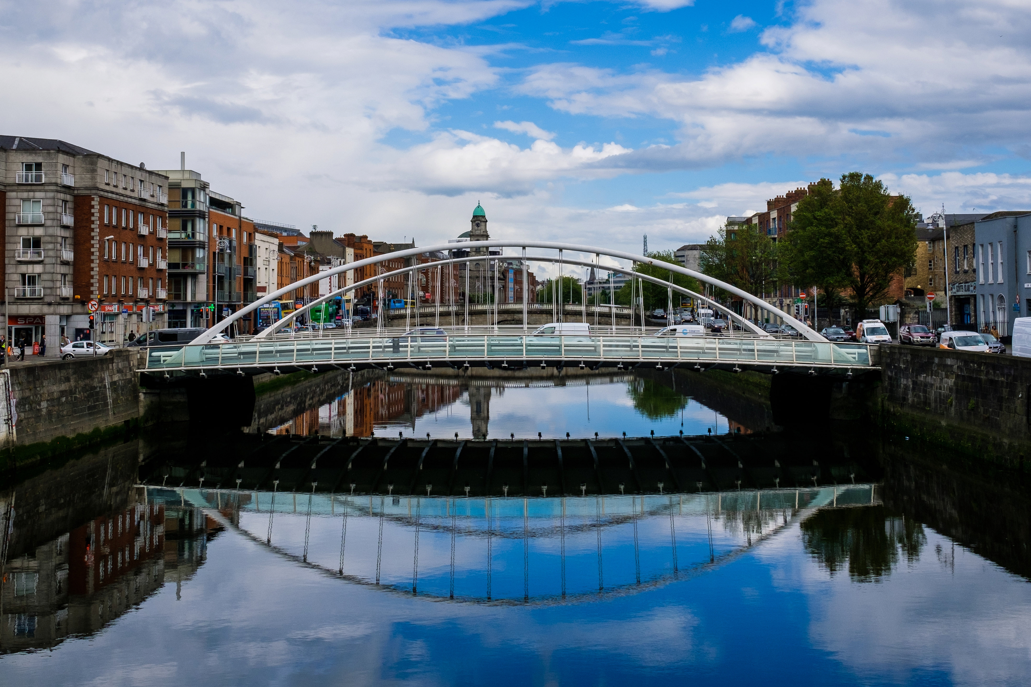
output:
[[[628,496],[425,497],[153,488],[277,555],[352,583],[475,604],[555,604],[703,574],[872,484]]]

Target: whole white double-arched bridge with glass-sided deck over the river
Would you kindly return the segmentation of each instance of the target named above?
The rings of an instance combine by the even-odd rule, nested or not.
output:
[[[516,249],[517,254],[488,254],[491,248]],[[557,251],[557,254],[532,254],[528,249]],[[455,251],[461,251],[461,256],[454,256]],[[481,252],[480,252],[481,251]],[[476,253],[480,254],[476,254]],[[453,256],[444,260],[410,265],[398,270],[384,272],[387,261],[399,259],[414,259],[418,262],[424,253],[447,253]],[[569,255],[568,253],[572,253]],[[609,259],[602,264],[602,257]],[[585,260],[591,257],[593,260]],[[624,261],[629,265],[612,265],[614,261]],[[523,299],[522,327],[500,327],[497,324],[499,301],[506,300],[508,294],[507,280],[499,279],[502,270],[499,264],[517,261],[522,266],[523,283],[527,283],[528,263],[552,263],[559,266],[560,275],[565,266],[594,267],[610,273],[624,273],[631,278],[628,283],[634,296],[631,298],[629,310],[631,321],[636,321],[639,315],[641,327],[614,327],[614,317],[609,316],[612,325],[598,324],[598,313],[607,310],[611,315],[614,306],[572,306],[579,313],[579,320],[588,329],[579,328],[575,334],[563,334],[561,328],[556,332],[531,332],[528,324],[530,304]],[[494,267],[491,267],[494,263]],[[454,302],[455,289],[450,288],[448,298],[452,302],[441,303],[441,288],[436,293],[434,304],[435,317],[433,329],[419,328],[430,322],[417,321],[412,325],[411,311],[406,309],[405,329],[390,330],[384,327],[383,310],[378,313],[377,327],[368,329],[336,329],[322,330],[309,334],[298,335],[293,331],[293,320],[323,303],[339,296],[345,296],[357,289],[371,287],[377,295],[377,301],[383,300],[384,283],[388,276],[397,277],[402,273],[429,272],[430,282],[438,286],[442,283],[442,271],[454,274],[454,266],[466,264],[483,265],[477,272],[479,286],[488,293],[493,309],[493,327],[469,325],[469,295],[470,272],[464,270],[465,288],[462,291],[461,303]],[[637,266],[646,265],[668,272],[668,279],[637,271]],[[331,289],[328,294],[313,299],[303,307],[282,316],[278,321],[263,330],[253,338],[237,338],[226,341],[217,338],[218,335],[233,325],[233,323],[256,311],[263,305],[277,299],[288,297],[297,288],[314,284],[334,275],[346,272],[373,268],[377,274],[368,279],[357,281],[350,285]],[[653,269],[653,272],[656,271]],[[436,272],[436,279],[433,273]],[[761,327],[729,311],[705,294],[697,293],[674,283],[674,275],[693,277],[699,282],[721,289],[742,299],[751,304],[763,318],[775,318],[794,327],[800,335],[799,339],[771,336]],[[485,279],[486,277],[486,279]],[[487,281],[484,288],[484,281]],[[450,279],[451,281],[451,279]],[[643,301],[640,297],[645,282],[658,284],[666,288],[668,305],[673,304],[673,295],[689,296],[701,303],[706,303],[726,312],[731,319],[729,332],[719,336],[676,336],[674,332],[662,332],[647,329],[643,312]],[[332,283],[332,282],[331,282]],[[609,284],[611,285],[611,280]],[[409,288],[413,288],[414,280],[408,279]],[[611,287],[611,286],[610,286]],[[502,296],[504,295],[504,296]],[[610,303],[614,301],[614,293],[610,293]],[[554,320],[562,322],[569,316],[570,306],[563,303],[560,297],[551,304]],[[464,311],[463,327],[440,327],[441,307],[447,312]],[[518,307],[518,304],[505,303],[506,310]],[[537,308],[540,306],[537,305]],[[612,310],[610,310],[612,309]],[[589,315],[592,315],[593,322]],[[418,318],[418,314],[415,315]],[[569,321],[566,319],[566,321]],[[735,329],[736,325],[736,329]],[[433,366],[453,369],[469,367],[489,367],[507,369],[524,369],[531,366],[563,368],[576,366],[599,369],[602,367],[631,369],[639,366],[667,369],[670,367],[689,366],[695,369],[721,367],[739,371],[743,368],[758,369],[764,372],[777,372],[780,368],[805,368],[810,374],[840,372],[852,374],[862,369],[873,367],[869,348],[864,344],[832,343],[796,319],[769,303],[707,275],[689,270],[678,265],[658,261],[645,255],[636,255],[623,251],[598,248],[594,246],[559,243],[551,241],[527,241],[512,243],[511,241],[489,240],[472,241],[460,244],[443,244],[400,250],[383,255],[376,255],[346,265],[334,267],[317,275],[299,279],[258,301],[241,308],[231,316],[205,331],[201,336],[187,345],[152,346],[147,349],[145,372],[161,373],[196,373],[206,376],[210,373],[229,372],[240,375],[260,372],[288,372],[297,369],[319,371],[320,369],[358,370],[379,368],[393,370],[395,367],[420,367],[431,369]]]

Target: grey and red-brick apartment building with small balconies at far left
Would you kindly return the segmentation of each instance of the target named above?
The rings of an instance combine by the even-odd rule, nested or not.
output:
[[[8,341],[121,341],[164,322],[168,177],[57,139],[0,136]],[[91,333],[87,304],[100,304]]]

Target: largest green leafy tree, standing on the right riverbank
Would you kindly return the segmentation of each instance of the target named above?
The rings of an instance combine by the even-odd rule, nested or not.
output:
[[[916,212],[869,174],[849,172],[839,187],[824,180],[798,203],[779,259],[791,282],[845,293],[854,318],[885,303],[892,280],[917,254]]]

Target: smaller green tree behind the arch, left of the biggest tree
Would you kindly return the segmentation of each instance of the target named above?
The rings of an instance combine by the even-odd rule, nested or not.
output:
[[[753,296],[771,293],[776,278],[776,244],[759,225],[721,227],[702,248],[702,273]]]

